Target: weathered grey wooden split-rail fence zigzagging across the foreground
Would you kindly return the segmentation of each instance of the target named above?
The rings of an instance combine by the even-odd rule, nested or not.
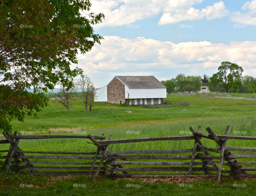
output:
[[[93,174],[96,180],[98,174],[107,174],[111,177],[149,177],[175,175],[174,172],[203,172],[207,175],[211,172],[217,173],[217,183],[221,179],[221,174],[229,174],[230,177],[256,177],[256,174],[247,171],[256,171],[255,167],[245,167],[244,165],[255,165],[256,154],[231,154],[230,151],[256,151],[250,147],[228,147],[227,140],[256,140],[256,137],[230,136],[230,126],[227,126],[225,135],[216,135],[210,127],[206,130],[209,134],[201,133],[201,126],[197,131],[190,127],[193,135],[116,139],[110,135],[105,140],[105,135],[21,135],[4,132],[5,140],[0,140],[0,144],[10,144],[9,150],[1,150],[0,153],[7,155],[0,156],[3,161],[2,169],[8,171],[24,171],[35,175],[45,174]],[[57,139],[57,138],[84,138],[89,139],[87,143],[95,146],[94,152],[74,152],[74,151],[29,151],[21,150],[18,146],[19,140],[23,139]],[[201,139],[214,140],[218,148],[210,148],[203,145]],[[166,149],[166,150],[124,150],[110,151],[110,145],[124,143],[138,143],[150,141],[179,141],[194,140],[193,148],[188,149]],[[242,144],[243,142],[241,142]],[[170,145],[171,146],[171,145]],[[190,155],[184,155],[190,154]],[[25,155],[29,154],[29,155]],[[37,154],[37,155],[31,155]],[[46,154],[46,155],[38,155]],[[51,155],[53,154],[53,155]],[[40,159],[40,161],[38,161]],[[237,160],[243,159],[243,160]],[[249,161],[244,159],[250,159]],[[60,160],[69,160],[66,162]],[[79,161],[77,161],[79,160]],[[99,161],[97,161],[99,160]],[[165,161],[163,161],[165,160]],[[173,160],[173,161],[172,161]],[[82,161],[82,162],[81,162]],[[38,166],[39,165],[39,166]],[[54,166],[51,166],[54,165]],[[229,169],[223,170],[223,165]],[[174,174],[164,174],[173,172]],[[212,174],[212,173],[211,173]],[[195,176],[195,175],[192,175]]]

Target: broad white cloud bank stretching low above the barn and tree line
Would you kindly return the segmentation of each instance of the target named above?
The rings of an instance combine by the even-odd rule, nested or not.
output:
[[[96,87],[107,84],[114,75],[155,75],[175,77],[179,73],[211,75],[222,61],[242,66],[244,74],[256,74],[256,42],[233,41],[229,44],[201,42],[162,42],[105,36],[101,45],[81,56],[78,66],[89,75]]]

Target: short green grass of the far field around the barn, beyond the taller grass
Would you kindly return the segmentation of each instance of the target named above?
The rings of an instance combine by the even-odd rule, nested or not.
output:
[[[231,115],[255,114],[255,101],[224,100],[208,97],[167,95],[173,103],[189,102],[189,106],[145,108],[141,106],[120,106],[117,104],[95,103],[92,112],[85,112],[81,100],[73,102],[70,113],[59,103],[50,101],[49,106],[38,113],[38,118],[26,117],[25,123],[13,121],[14,131],[63,131],[124,127],[176,122],[178,120],[223,118]],[[111,110],[106,110],[111,109]],[[126,110],[132,111],[127,113]],[[187,110],[187,111],[183,111]],[[25,132],[24,132],[25,133]]]

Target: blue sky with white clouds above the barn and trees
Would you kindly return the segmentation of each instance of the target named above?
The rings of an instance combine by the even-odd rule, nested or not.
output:
[[[115,75],[166,80],[217,73],[223,61],[256,76],[256,0],[91,0],[101,44],[78,55],[96,88]]]

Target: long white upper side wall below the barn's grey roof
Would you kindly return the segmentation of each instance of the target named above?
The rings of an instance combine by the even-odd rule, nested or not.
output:
[[[130,99],[166,98],[166,88],[128,88]],[[127,99],[125,89],[125,98]]]

